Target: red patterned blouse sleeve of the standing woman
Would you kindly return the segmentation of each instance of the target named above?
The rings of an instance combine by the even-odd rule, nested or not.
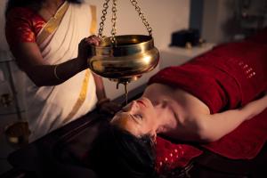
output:
[[[8,44],[36,42],[36,36],[46,21],[27,7],[15,7],[7,14],[5,36]]]

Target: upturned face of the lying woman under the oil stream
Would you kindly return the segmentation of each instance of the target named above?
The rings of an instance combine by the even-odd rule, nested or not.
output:
[[[151,101],[142,97],[130,102],[117,112],[110,123],[140,137],[144,134],[156,134],[156,120],[156,112]]]

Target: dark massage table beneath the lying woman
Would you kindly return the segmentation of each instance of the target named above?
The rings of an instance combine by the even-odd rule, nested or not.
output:
[[[144,88],[145,85],[142,85],[131,91],[129,99],[134,100],[141,96]],[[123,103],[124,100],[125,97],[121,96],[114,101]],[[13,168],[1,178],[97,177],[81,160],[85,157],[93,139],[105,129],[111,117],[94,109],[85,117],[12,152],[8,161]],[[232,160],[204,148],[198,149],[203,150],[203,154],[193,158],[187,166],[175,169],[169,177],[258,178],[267,176],[267,144],[255,158],[247,160]]]

